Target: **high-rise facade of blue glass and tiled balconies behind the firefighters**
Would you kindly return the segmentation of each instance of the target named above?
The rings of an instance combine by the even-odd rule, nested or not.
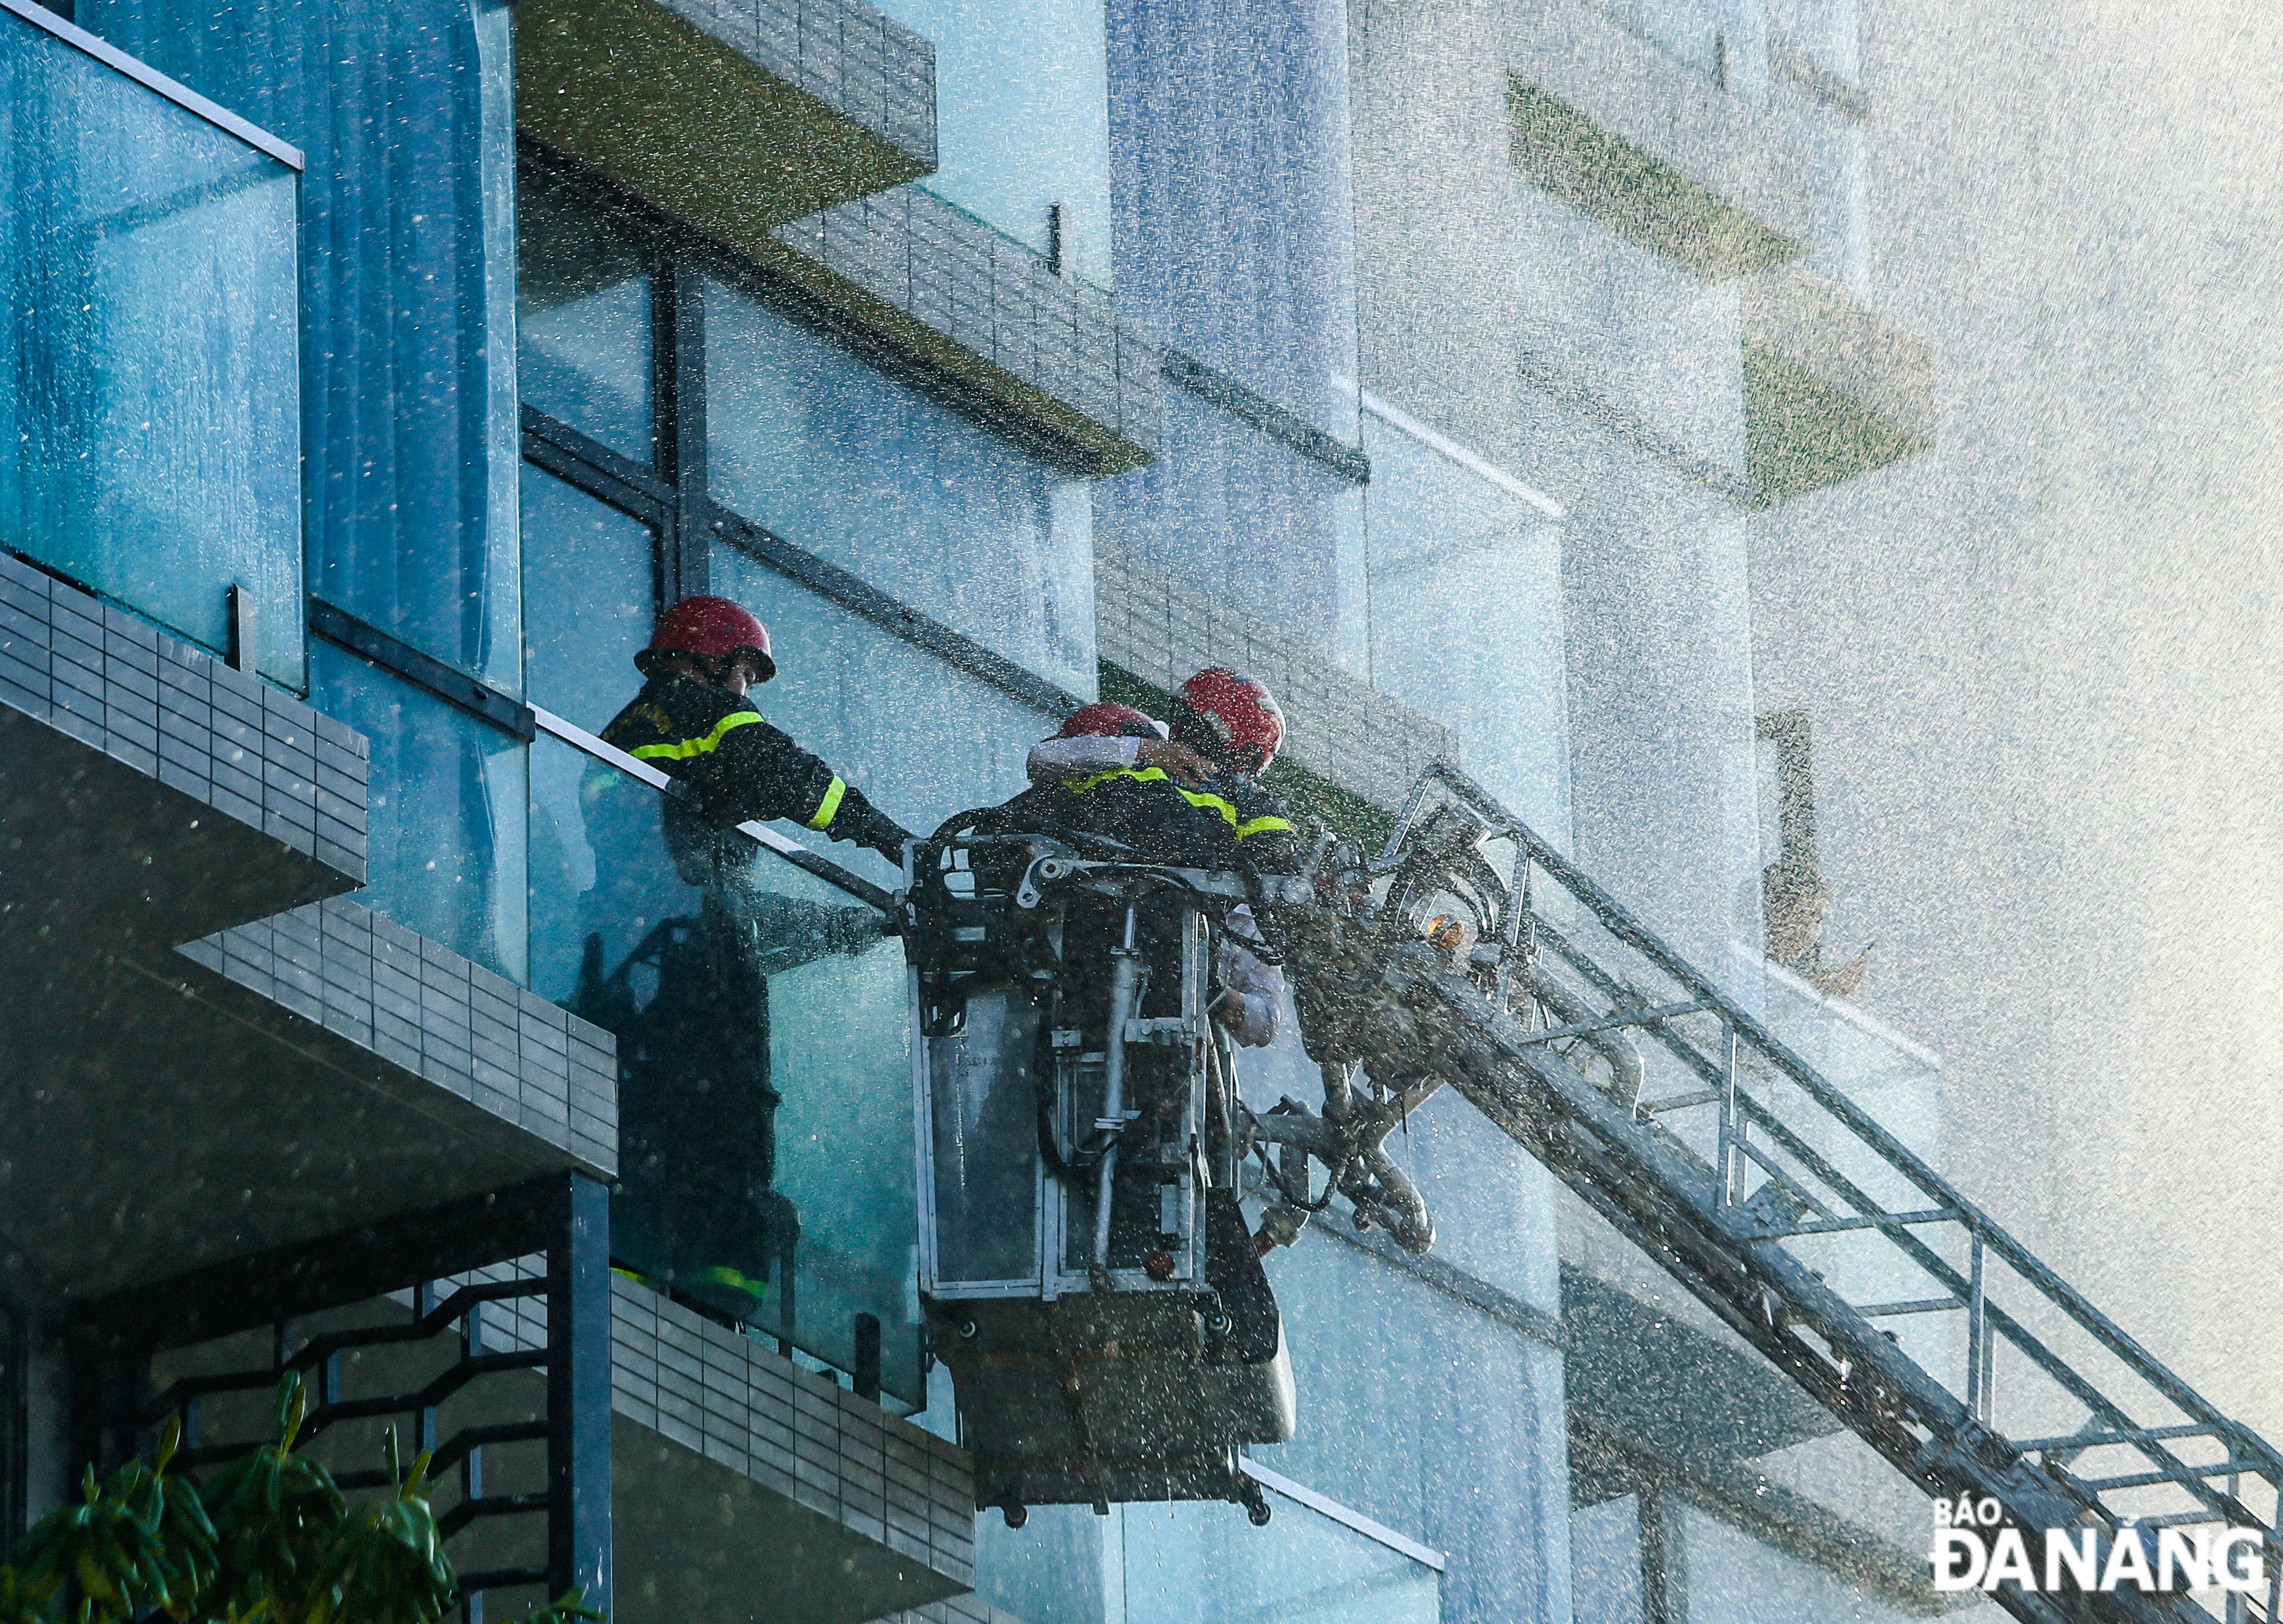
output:
[[[977,1510],[900,875],[735,831],[740,980],[598,738],[692,594],[918,831],[1235,665],[1297,809],[1377,838],[1463,765],[1979,1195],[1957,978],[1845,980],[1945,834],[1881,866],[1888,667],[1799,656],[1893,566],[1865,512],[2034,484],[1952,448],[1867,203],[1934,208],[1872,142],[1906,11],[1881,57],[1856,0],[0,0],[7,1528],[295,1366],[342,1469],[441,1448],[470,1624],[1943,1610],[1920,1489],[1452,1094],[1431,1254],[1326,1211],[1269,1259],[1269,1526]],[[694,1252],[621,1103],[735,1044],[765,1190]],[[1313,1085],[1290,1032],[1244,1071]]]

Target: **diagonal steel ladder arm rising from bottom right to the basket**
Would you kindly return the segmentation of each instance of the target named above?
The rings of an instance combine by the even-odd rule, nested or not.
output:
[[[1507,886],[1482,879],[1479,847],[1498,841],[1516,852]],[[1566,909],[1562,925],[1532,902],[1539,877]],[[1998,1501],[2039,1569],[2048,1528],[2094,1530],[2103,1560],[2114,1539],[2141,1539],[2119,1533],[2132,1519],[2253,1528],[2269,1583],[2256,1599],[2233,1594],[2228,1619],[2276,1619],[2283,1544],[2274,1517],[2244,1494],[2258,1478],[2283,1496],[2276,1450],[1463,774],[1431,767],[1379,859],[1352,843],[1329,847],[1315,893],[1269,909],[1269,925],[1310,1058],[1342,1078],[1361,1062],[1374,1085],[1349,1121],[1393,1119],[1409,1110],[1397,1101],[1452,1087],[1911,1482],[1929,1496]],[[1470,934],[1447,927],[1452,898],[1473,907]],[[1445,911],[1425,918],[1436,907]],[[1562,991],[1557,964],[1578,989]],[[1644,980],[1662,996],[1641,991]],[[1552,1026],[1518,1019],[1532,989],[1543,996],[1530,1007]],[[1630,1032],[1630,1076],[1610,1032]],[[1662,1071],[1641,1064],[1635,1037],[1653,1039],[1648,1060]],[[1607,1083],[1573,1064],[1587,1053],[1607,1062]],[[1694,1087],[1651,1096],[1644,1071]],[[1333,1165],[1345,1190],[1354,1137],[1333,1117],[1288,1101],[1253,1126]],[[1870,1179],[1913,1195],[1881,1201]],[[1888,1270],[1922,1275],[1945,1295],[1852,1300],[1799,1254],[1836,1238],[1881,1247]],[[1945,1256],[1945,1245],[1966,1256]],[[2000,1288],[2011,1307],[1991,1300]],[[1881,1327],[1902,1313],[1966,1318],[1963,1380],[1936,1375]],[[2000,1345],[2043,1382],[2009,1407],[2027,1423],[2020,1437],[1995,1421]],[[2062,1407],[2082,1421],[2055,1428]],[[2187,1460],[2199,1439],[2219,1457]],[[2087,1473],[2089,1450],[2123,1453],[2132,1469]],[[2164,1492],[2187,1505],[2148,1498]],[[2212,1617],[2185,1594],[2130,1585],[2046,1594],[2004,1583],[1993,1599],[2030,1624]]]

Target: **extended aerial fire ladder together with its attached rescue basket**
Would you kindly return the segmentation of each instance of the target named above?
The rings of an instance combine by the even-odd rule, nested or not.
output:
[[[977,1498],[1009,1521],[1025,1494],[1242,1498],[1262,1521],[1237,1450],[1288,1437],[1294,1393],[1251,1254],[1336,1195],[1429,1249],[1386,1140],[1450,1087],[1929,1510],[1998,1508],[1977,1533],[2018,1530],[2039,1581],[2046,1530],[2089,1533],[2103,1567],[2137,1542],[2151,1569],[2164,1530],[2249,1530],[2265,1565],[2217,1615],[2178,1587],[2009,1578],[1991,1599],[2014,1617],[2278,1619],[2283,1457],[1454,767],[1420,779],[1377,854],[1320,831],[1306,879],[989,820],[922,843],[909,879],[922,1297]],[[1247,1108],[1203,1014],[1215,920],[1240,902],[1290,978],[1320,1108]],[[1089,932],[1110,943],[1091,959]],[[998,1183],[954,1188],[966,1156]],[[1253,1192],[1240,1245],[1233,1197]],[[977,1249],[959,1201],[998,1224],[982,1284],[950,1265]]]

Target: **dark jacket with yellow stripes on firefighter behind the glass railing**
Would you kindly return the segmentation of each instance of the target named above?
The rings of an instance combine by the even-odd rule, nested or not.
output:
[[[893,818],[726,688],[653,676],[603,740],[696,790],[715,825],[783,818],[893,861],[904,857],[906,836]]]

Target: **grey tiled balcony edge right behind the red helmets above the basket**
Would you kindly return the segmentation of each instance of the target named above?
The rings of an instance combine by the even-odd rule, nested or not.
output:
[[[1441,722],[1103,541],[1094,596],[1103,660],[1167,692],[1210,665],[1258,676],[1283,706],[1285,754],[1374,806],[1399,809],[1431,761],[1459,761]]]

